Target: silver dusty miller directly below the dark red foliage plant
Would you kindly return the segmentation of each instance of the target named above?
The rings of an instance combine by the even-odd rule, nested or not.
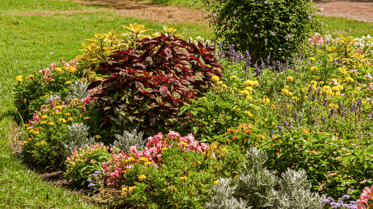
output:
[[[137,125],[129,124],[128,118],[120,114],[119,108],[114,110],[114,114],[115,117],[110,116],[110,120],[118,127],[113,130],[113,132],[117,133],[114,134],[117,140],[110,146],[115,146],[125,152],[128,152],[131,146],[136,146],[138,151],[142,151],[146,142],[146,139],[142,139],[144,132],[137,132]]]

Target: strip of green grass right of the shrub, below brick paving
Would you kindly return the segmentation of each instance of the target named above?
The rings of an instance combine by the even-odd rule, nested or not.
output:
[[[324,32],[330,33],[333,38],[338,37],[338,34],[361,38],[368,34],[373,35],[373,23],[362,22],[358,20],[346,19],[344,17],[321,17],[323,26],[328,25],[328,28],[323,27]]]

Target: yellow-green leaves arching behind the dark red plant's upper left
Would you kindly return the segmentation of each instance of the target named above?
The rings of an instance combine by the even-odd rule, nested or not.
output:
[[[104,80],[104,76],[98,74],[96,68],[100,63],[109,61],[109,56],[114,54],[115,51],[129,47],[133,48],[137,46],[138,41],[146,37],[156,38],[161,35],[159,32],[152,33],[151,35],[145,34],[145,32],[152,29],[145,29],[144,25],[137,25],[137,23],[129,24],[129,27],[122,25],[122,27],[128,29],[126,33],[115,33],[114,30],[109,33],[95,33],[95,38],[85,39],[90,44],[82,42],[84,49],[79,51],[84,52],[84,54],[76,56],[76,60],[79,63],[76,66],[76,70],[82,72],[82,81]],[[173,34],[183,37],[181,34],[174,33],[176,31],[174,27],[168,28],[166,25],[163,25],[163,29],[168,35]]]

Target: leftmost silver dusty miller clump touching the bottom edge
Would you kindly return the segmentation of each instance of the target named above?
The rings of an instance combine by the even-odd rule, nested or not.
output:
[[[210,202],[205,203],[206,209],[250,209],[251,207],[246,207],[247,202],[245,200],[237,200],[232,195],[237,189],[237,184],[230,187],[231,178],[224,179],[220,178],[219,183],[213,186],[213,198]]]

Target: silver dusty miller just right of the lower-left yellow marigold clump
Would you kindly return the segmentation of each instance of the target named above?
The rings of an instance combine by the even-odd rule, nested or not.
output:
[[[83,147],[85,144],[93,145],[95,143],[94,137],[88,138],[88,129],[84,123],[77,124],[72,123],[71,126],[68,125],[68,130],[66,131],[67,142],[63,144],[62,155],[64,157],[72,155],[75,149]]]

